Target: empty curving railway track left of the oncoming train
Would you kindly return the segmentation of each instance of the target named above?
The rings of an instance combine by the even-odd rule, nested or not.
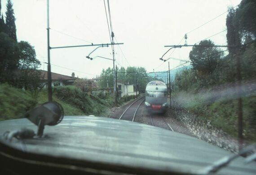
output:
[[[126,108],[123,114],[119,117],[119,120],[129,120],[134,121],[138,108],[141,106],[141,103],[145,101],[145,96],[138,98],[130,106]]]

